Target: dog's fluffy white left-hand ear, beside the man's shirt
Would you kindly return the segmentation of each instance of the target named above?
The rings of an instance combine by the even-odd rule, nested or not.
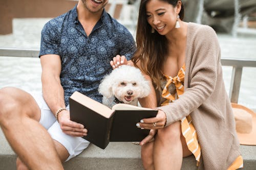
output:
[[[111,75],[106,76],[99,85],[99,93],[105,96],[106,98],[111,98],[113,95],[113,80]]]

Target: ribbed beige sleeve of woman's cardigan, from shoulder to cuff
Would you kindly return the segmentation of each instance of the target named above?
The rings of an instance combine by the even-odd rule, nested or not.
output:
[[[166,114],[166,126],[181,120],[207,100],[215,89],[220,46],[215,31],[209,26],[198,26],[187,46],[186,73],[188,87],[174,103],[158,107]],[[187,70],[189,67],[189,70]]]

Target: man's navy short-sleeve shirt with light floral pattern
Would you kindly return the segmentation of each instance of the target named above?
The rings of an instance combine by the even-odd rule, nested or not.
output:
[[[130,60],[136,51],[135,41],[131,33],[105,10],[87,36],[76,9],[75,6],[46,23],[41,32],[39,57],[47,54],[60,56],[60,81],[66,105],[74,91],[102,102],[98,87],[112,70],[110,61],[118,54]]]

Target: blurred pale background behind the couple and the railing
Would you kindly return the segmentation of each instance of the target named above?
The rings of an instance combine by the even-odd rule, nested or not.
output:
[[[215,29],[223,58],[256,59],[255,0],[183,0],[185,21]],[[106,10],[136,36],[140,0],[109,0]],[[1,0],[0,48],[39,50],[40,32],[51,18],[72,9],[71,0]],[[243,68],[238,103],[256,110],[256,67]],[[229,93],[232,67],[223,66]],[[41,91],[39,58],[0,56],[0,88]]]

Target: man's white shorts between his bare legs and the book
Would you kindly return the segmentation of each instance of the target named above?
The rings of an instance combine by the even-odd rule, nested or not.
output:
[[[35,99],[41,110],[41,118],[39,123],[44,126],[52,138],[60,142],[69,152],[69,157],[66,161],[79,155],[89,145],[89,141],[82,137],[73,137],[62,132],[59,123],[56,121],[55,116],[46,104],[42,94],[30,93]]]

